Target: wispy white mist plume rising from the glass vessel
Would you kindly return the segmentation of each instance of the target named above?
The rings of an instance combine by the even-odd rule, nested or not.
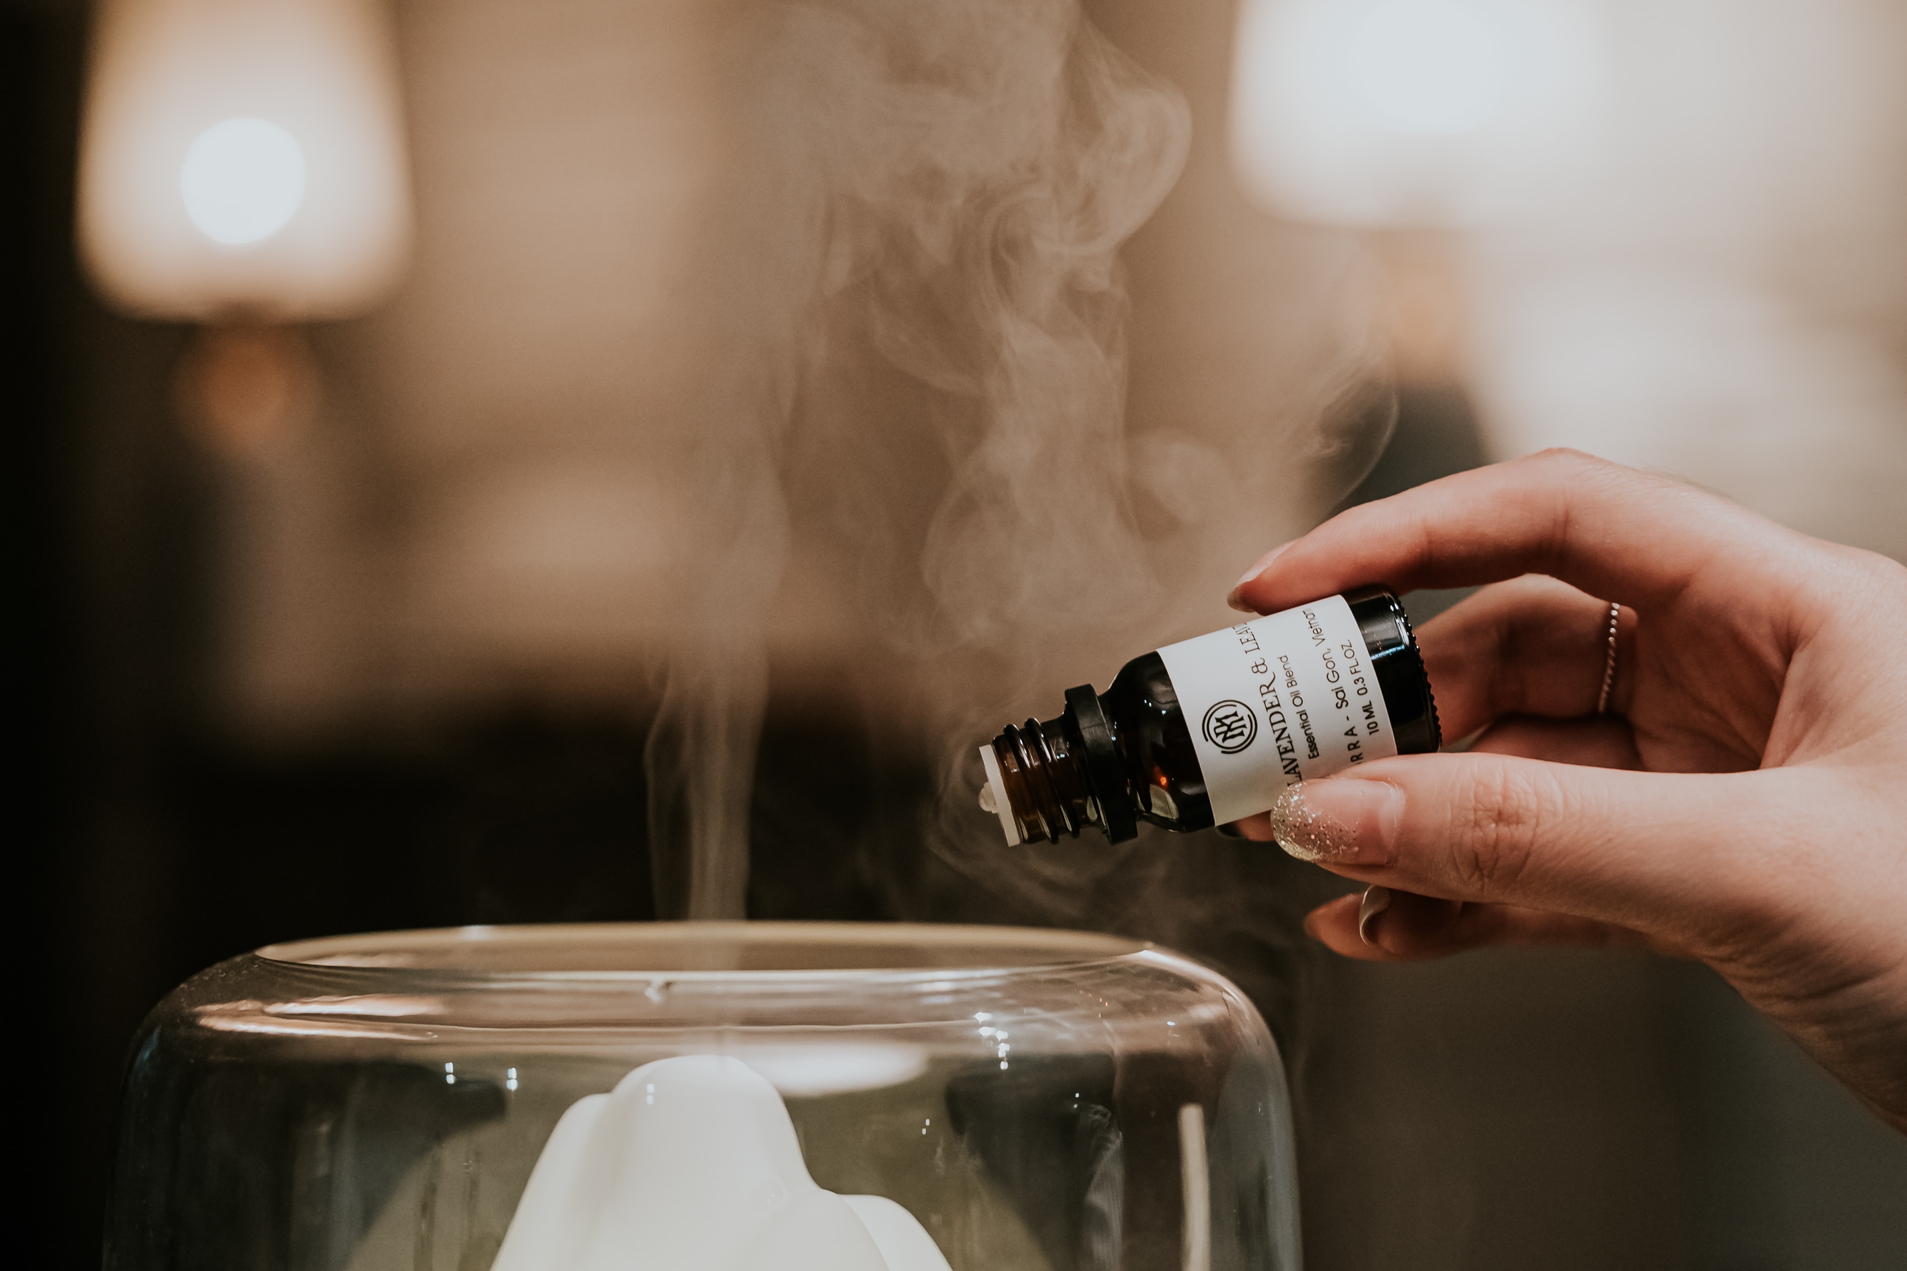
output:
[[[917,654],[954,675],[948,656],[1013,654],[1013,678],[1043,684],[1045,659],[1016,648],[1036,625],[1127,625],[1156,604],[1127,497],[1118,248],[1190,135],[1179,93],[1074,0],[776,4],[736,82],[746,175],[713,303],[730,353],[698,410],[700,587],[646,749],[658,905],[690,917],[742,915],[755,600],[788,541],[776,463],[803,383],[845,349],[929,391],[879,423],[948,469],[919,545],[929,604],[902,621]],[[950,753],[997,724],[990,696],[938,720],[961,732]]]

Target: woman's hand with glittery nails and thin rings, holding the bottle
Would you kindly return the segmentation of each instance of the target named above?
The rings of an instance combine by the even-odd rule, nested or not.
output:
[[[1304,781],[1240,825],[1392,888],[1362,936],[1356,896],[1306,928],[1375,960],[1697,957],[1907,1130],[1907,568],[1548,452],[1354,507],[1232,600],[1369,581],[1493,583],[1419,633],[1444,736],[1478,737]]]

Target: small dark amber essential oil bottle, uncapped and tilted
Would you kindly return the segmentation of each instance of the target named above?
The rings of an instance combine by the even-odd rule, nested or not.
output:
[[[1404,606],[1364,587],[1142,654],[1104,694],[1066,690],[1062,715],[980,747],[980,808],[1007,842],[1083,825],[1121,842],[1140,819],[1224,825],[1295,781],[1442,741]]]

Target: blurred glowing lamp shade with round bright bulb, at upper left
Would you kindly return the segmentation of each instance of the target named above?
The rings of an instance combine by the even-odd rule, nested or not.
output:
[[[376,0],[107,0],[80,252],[147,316],[357,313],[397,280],[410,194]]]

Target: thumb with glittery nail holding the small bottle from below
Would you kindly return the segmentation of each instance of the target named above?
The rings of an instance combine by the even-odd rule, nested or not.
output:
[[[1425,755],[1301,781],[1270,831],[1291,856],[1365,882],[1707,945],[1716,920],[1766,911],[1768,884],[1794,882],[1743,859],[1779,819],[1770,785],[1783,777]]]

